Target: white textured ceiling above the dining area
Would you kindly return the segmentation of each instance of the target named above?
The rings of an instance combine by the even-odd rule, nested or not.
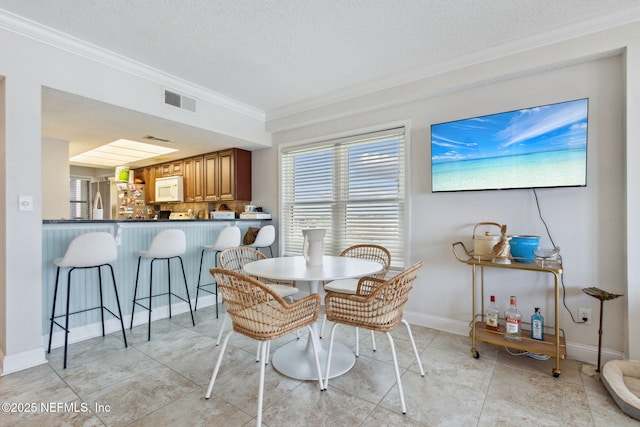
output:
[[[0,0],[267,115],[631,4],[638,1]]]

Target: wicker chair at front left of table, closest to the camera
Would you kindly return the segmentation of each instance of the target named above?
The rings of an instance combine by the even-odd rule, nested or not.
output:
[[[311,343],[318,373],[318,383],[320,390],[323,390],[318,349],[314,343],[314,332],[311,328],[311,325],[318,320],[320,295],[311,294],[294,303],[288,303],[273,289],[252,277],[221,268],[212,268],[210,272],[218,282],[218,289],[227,308],[227,314],[231,318],[233,329],[224,339],[205,397],[207,399],[211,397],[224,351],[234,332],[257,340],[260,344],[260,361],[264,361],[267,357],[267,344],[271,340],[305,326],[312,336]],[[262,424],[264,371],[265,363],[260,363],[256,424],[258,427]]]

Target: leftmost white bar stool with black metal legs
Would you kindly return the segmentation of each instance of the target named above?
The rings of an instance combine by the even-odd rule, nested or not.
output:
[[[118,249],[116,247],[116,241],[113,235],[105,232],[85,233],[74,238],[69,247],[67,248],[64,257],[56,258],[53,263],[58,266],[56,272],[56,285],[53,291],[53,306],[51,308],[51,326],[49,328],[49,348],[47,353],[51,353],[51,339],[53,337],[53,325],[57,325],[65,330],[64,336],[64,369],[67,369],[67,345],[69,340],[69,316],[72,314],[84,313],[85,311],[100,309],[100,318],[102,320],[102,336],[105,335],[104,331],[104,312],[108,311],[116,319],[120,320],[120,326],[122,328],[122,337],[124,338],[124,346],[127,347],[127,335],[124,331],[124,322],[122,321],[122,311],[120,310],[120,299],[118,298],[118,288],[116,286],[116,278],[113,274],[113,267],[111,263],[118,258]],[[116,304],[118,306],[118,314],[104,306],[102,298],[102,267],[108,266],[111,271],[111,280],[113,281],[113,291],[116,296]],[[58,283],[60,282],[60,269],[68,268],[67,274],[67,303],[66,311],[64,314],[56,315],[56,300],[58,297]],[[97,268],[98,269],[98,283],[100,290],[100,305],[97,307],[86,308],[75,312],[69,312],[70,300],[71,300],[71,273],[76,269],[84,268]],[[82,283],[84,286],[85,283]],[[58,323],[55,319],[58,317],[64,317],[64,326]]]

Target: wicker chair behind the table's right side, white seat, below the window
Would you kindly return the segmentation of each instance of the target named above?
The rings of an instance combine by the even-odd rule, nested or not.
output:
[[[360,258],[366,259],[369,261],[375,261],[382,265],[382,270],[378,273],[374,274],[372,277],[376,277],[378,279],[384,279],[387,273],[389,272],[389,267],[391,266],[391,253],[384,246],[380,245],[372,245],[372,244],[361,244],[354,245],[348,247],[344,251],[340,253],[340,256],[348,256],[351,258]],[[326,292],[338,292],[348,295],[354,295],[358,288],[358,279],[339,279],[333,280],[324,285],[324,290]],[[322,317],[322,326],[320,327],[320,337],[324,333],[324,324],[327,320],[327,316]],[[371,344],[373,346],[373,351],[376,351],[376,338],[371,331]],[[356,356],[360,355],[360,336],[358,334],[358,328],[356,327]]]

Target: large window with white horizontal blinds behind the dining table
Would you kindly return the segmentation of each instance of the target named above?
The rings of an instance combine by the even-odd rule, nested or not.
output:
[[[405,264],[404,128],[281,151],[281,252],[302,253],[302,230],[325,228],[325,254],[373,243]]]

